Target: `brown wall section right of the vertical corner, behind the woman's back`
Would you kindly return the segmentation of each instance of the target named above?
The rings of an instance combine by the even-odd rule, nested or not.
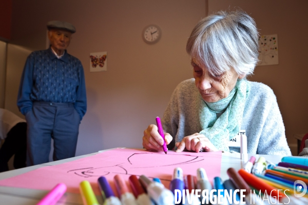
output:
[[[288,143],[295,146],[293,134],[308,132],[308,2],[208,1],[209,13],[234,7],[240,7],[256,20],[260,35],[278,34],[279,65],[256,67],[254,75],[249,79],[262,82],[274,90]]]

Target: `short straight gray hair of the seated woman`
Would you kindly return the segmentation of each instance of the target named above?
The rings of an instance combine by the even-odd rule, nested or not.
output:
[[[258,63],[258,39],[256,23],[247,13],[219,11],[200,20],[188,38],[186,51],[211,74],[234,68],[239,75],[249,75]]]

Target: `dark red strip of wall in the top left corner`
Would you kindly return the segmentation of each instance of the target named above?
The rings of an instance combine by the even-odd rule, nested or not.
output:
[[[0,0],[0,39],[11,38],[12,0]]]

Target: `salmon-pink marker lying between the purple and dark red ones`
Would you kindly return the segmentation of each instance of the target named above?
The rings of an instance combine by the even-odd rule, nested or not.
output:
[[[128,191],[125,181],[117,174],[114,176],[115,188],[117,188],[118,194],[121,198],[123,205],[137,205],[135,197]]]

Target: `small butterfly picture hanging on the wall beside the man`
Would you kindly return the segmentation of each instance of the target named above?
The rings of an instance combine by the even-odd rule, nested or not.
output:
[[[107,71],[107,52],[90,53],[90,72]]]

